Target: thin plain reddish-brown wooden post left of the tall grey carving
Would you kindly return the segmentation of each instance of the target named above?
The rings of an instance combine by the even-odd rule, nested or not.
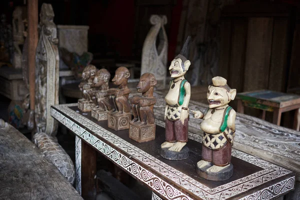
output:
[[[34,111],[34,96],[35,96],[35,50],[38,41],[37,23],[38,11],[37,0],[28,0],[28,67],[29,67],[29,95],[30,95],[30,110]]]

